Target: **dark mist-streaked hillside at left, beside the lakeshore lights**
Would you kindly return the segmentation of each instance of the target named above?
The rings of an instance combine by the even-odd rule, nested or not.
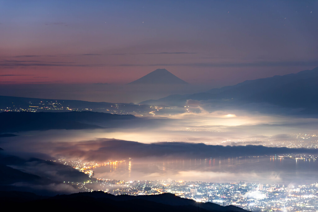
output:
[[[73,182],[91,180],[70,166],[34,158],[36,155],[0,150],[0,189],[41,195],[69,194],[81,191]]]

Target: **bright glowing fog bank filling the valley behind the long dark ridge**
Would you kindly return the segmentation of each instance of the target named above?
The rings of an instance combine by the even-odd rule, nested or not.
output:
[[[106,129],[46,130],[15,132],[15,137],[0,139],[0,147],[12,151],[54,154],[59,143],[78,143],[98,138],[142,143],[191,142],[210,145],[264,145],[314,148],[318,119],[297,116],[264,115],[243,110],[218,110],[212,113],[184,113],[153,118],[122,120]],[[125,124],[125,122],[129,124]],[[104,126],[103,123],[98,123]],[[301,138],[299,134],[310,135]]]

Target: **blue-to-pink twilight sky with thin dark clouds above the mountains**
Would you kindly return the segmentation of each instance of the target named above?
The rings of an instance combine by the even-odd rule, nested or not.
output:
[[[318,66],[318,1],[3,1],[0,83],[211,88]]]

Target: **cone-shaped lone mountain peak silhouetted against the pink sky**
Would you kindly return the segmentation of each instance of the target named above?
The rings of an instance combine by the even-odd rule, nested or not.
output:
[[[153,72],[128,84],[189,84],[166,69],[157,69]]]

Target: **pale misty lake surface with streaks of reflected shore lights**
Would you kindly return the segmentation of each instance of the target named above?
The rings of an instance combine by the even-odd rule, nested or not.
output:
[[[318,181],[318,162],[289,158],[126,160],[94,169],[95,177],[120,180],[185,180],[306,184]]]

